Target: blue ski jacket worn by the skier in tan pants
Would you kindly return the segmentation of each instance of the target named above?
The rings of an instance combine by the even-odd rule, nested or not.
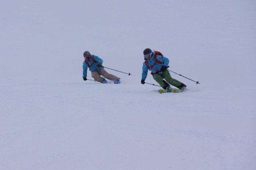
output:
[[[95,62],[93,62],[92,57],[91,57],[90,61],[87,61],[88,64],[89,64],[89,70],[91,72],[95,72],[95,71],[97,72],[101,68],[103,68],[102,66],[101,67],[97,67],[98,63],[101,63],[101,64],[103,63],[103,60],[100,57],[98,57],[98,56],[93,56],[93,59],[95,60]],[[87,77],[87,69],[88,69],[88,66],[87,66],[86,62],[83,61],[83,77]]]

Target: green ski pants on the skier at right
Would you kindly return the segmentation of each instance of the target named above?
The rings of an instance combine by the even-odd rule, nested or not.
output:
[[[153,76],[154,80],[160,84],[161,87],[164,87],[163,79],[165,79],[172,86],[178,87],[182,84],[182,82],[173,79],[168,70],[164,71],[162,74],[156,74]]]

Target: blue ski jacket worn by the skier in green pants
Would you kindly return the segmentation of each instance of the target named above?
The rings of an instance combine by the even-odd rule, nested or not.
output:
[[[156,57],[156,59],[158,61],[161,61],[162,64],[159,64],[155,61],[154,57]],[[163,56],[155,56],[155,52],[153,52],[152,57],[147,60],[146,58],[144,58],[145,61],[148,61],[148,66],[149,66],[149,70],[153,73],[152,75],[157,75],[157,74],[162,74],[163,72],[159,72],[162,68],[162,66],[168,66],[169,65],[169,59]],[[142,76],[141,76],[141,80],[146,80],[147,75],[148,75],[148,67],[145,63],[145,61],[143,62],[143,67],[142,67]],[[158,73],[157,73],[158,72]]]

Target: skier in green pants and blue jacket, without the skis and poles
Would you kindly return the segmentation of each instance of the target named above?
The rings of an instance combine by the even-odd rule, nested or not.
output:
[[[158,51],[153,52],[151,49],[147,48],[143,51],[143,54],[145,61],[142,67],[141,84],[145,84],[148,70],[150,70],[154,80],[159,83],[164,90],[171,90],[170,84],[180,90],[186,89],[187,86],[185,84],[171,77],[167,70],[169,67],[169,59],[164,57],[162,53]]]

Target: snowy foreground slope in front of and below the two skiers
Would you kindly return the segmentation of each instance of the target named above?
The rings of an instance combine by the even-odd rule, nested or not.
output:
[[[253,169],[254,91],[155,89],[2,85],[1,169]]]

